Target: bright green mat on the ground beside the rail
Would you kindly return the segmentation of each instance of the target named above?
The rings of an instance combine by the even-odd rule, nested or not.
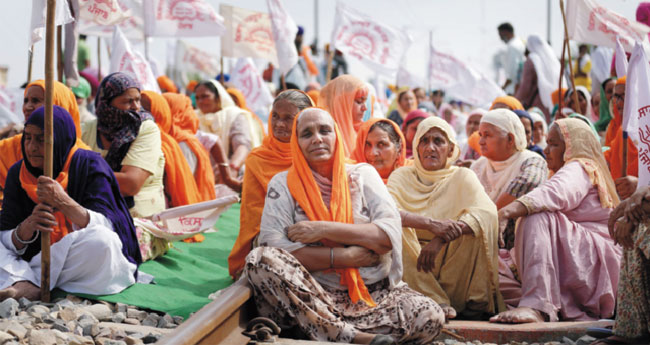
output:
[[[228,274],[228,254],[239,233],[239,207],[234,204],[224,212],[217,232],[205,233],[205,241],[174,242],[163,257],[142,264],[140,270],[153,275],[156,284],[135,284],[115,295],[77,295],[187,318],[211,302],[208,295],[233,283]]]

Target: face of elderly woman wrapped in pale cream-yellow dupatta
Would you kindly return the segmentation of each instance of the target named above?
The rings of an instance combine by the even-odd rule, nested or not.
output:
[[[454,153],[454,144],[440,128],[431,128],[420,138],[417,149],[424,170],[436,171],[447,166],[447,159]]]

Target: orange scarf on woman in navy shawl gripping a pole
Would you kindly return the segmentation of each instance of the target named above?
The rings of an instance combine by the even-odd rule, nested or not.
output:
[[[70,169],[70,162],[72,161],[72,156],[74,156],[75,152],[77,152],[77,149],[79,149],[79,146],[77,146],[76,144],[70,149],[70,152],[68,153],[68,158],[66,159],[65,165],[63,166],[63,170],[61,170],[59,176],[56,177],[56,182],[58,182],[61,185],[61,187],[63,187],[63,190],[65,191],[68,190],[68,175]],[[25,163],[21,164],[20,166],[19,178],[20,178],[20,185],[27,193],[27,196],[29,196],[29,198],[32,199],[34,203],[36,204],[40,203],[40,201],[38,200],[38,196],[36,195],[38,178],[32,175],[27,170],[27,167],[25,167]],[[54,227],[50,235],[50,241],[52,244],[58,242],[60,239],[63,238],[63,236],[71,232],[70,222],[65,218],[62,212],[60,211],[54,212],[54,217],[56,218],[56,222],[59,225]]]

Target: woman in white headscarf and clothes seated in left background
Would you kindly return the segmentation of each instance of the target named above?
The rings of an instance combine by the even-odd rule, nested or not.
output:
[[[200,82],[194,93],[199,129],[219,136],[230,161],[230,168],[239,171],[250,150],[262,142],[253,115],[237,107],[226,89],[216,80]]]

